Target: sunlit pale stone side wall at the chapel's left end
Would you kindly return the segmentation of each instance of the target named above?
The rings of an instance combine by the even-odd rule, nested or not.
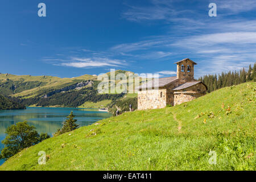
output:
[[[162,97],[161,97],[162,93]],[[166,88],[138,91],[138,110],[160,109],[166,107]]]

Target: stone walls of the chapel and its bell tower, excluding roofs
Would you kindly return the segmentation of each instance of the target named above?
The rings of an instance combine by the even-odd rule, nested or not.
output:
[[[181,66],[184,71],[181,71]],[[188,65],[190,71],[188,71]],[[177,63],[177,81],[171,82],[159,89],[147,89],[138,91],[138,110],[159,109],[166,105],[177,105],[183,102],[192,101],[197,97],[204,96],[206,87],[199,83],[183,90],[172,90],[185,82],[195,81],[194,79],[194,63],[187,60]]]

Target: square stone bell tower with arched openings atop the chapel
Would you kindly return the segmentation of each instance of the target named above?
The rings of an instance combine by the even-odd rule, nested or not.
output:
[[[181,61],[177,61],[177,78],[179,78],[179,85],[185,82],[195,81],[194,79],[194,61],[186,58]]]

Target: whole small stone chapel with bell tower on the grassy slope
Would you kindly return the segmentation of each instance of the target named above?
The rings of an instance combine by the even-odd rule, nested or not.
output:
[[[194,61],[186,58],[175,64],[177,76],[158,78],[157,84],[153,79],[139,86],[138,110],[175,106],[206,94],[207,86],[194,78]]]

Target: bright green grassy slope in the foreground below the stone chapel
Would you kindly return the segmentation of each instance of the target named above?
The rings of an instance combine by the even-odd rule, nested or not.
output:
[[[124,113],[44,140],[1,170],[255,170],[250,82],[164,109]],[[45,151],[47,164],[38,164]],[[217,164],[210,165],[210,151]]]

